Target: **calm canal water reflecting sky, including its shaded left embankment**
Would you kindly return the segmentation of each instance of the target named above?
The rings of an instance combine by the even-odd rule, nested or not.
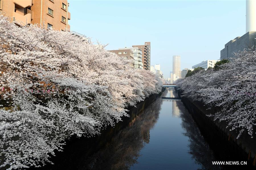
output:
[[[177,97],[167,88],[99,137],[67,142],[52,158],[54,165],[36,169],[227,169],[212,161],[238,161],[222,144],[207,142],[181,100],[168,99]]]

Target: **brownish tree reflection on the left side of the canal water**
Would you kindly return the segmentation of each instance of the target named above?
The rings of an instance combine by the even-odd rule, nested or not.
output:
[[[129,169],[137,162],[139,152],[149,143],[149,130],[155,125],[162,99],[157,98],[128,127],[120,130],[112,141],[83,162],[81,169]]]

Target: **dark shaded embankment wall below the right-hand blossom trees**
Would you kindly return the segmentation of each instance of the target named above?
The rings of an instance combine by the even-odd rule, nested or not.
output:
[[[181,97],[181,91],[176,90],[179,97]],[[226,154],[230,154],[233,158],[237,158],[243,161],[247,161],[247,164],[251,164],[255,167],[256,164],[256,135],[250,136],[247,131],[237,139],[238,131],[230,131],[230,128],[226,128],[227,123],[225,121],[214,121],[212,117],[207,115],[215,114],[221,111],[220,107],[210,107],[205,105],[201,101],[192,101],[190,98],[181,97],[181,101],[186,106],[193,119],[196,121],[203,136],[208,140],[214,141],[216,147],[223,147],[226,150]],[[210,108],[210,109],[208,109]],[[253,138],[251,138],[253,137]],[[225,145],[225,146],[220,146]],[[220,161],[236,161],[236,160],[220,160]]]

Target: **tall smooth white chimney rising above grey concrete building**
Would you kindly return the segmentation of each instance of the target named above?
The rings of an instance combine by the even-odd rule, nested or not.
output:
[[[246,0],[246,33],[256,31],[256,0]]]

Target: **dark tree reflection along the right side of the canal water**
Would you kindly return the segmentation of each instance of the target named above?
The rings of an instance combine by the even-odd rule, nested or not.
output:
[[[195,159],[197,164],[202,165],[202,169],[222,169],[219,165],[212,165],[212,161],[216,161],[213,151],[209,148],[208,143],[201,135],[191,114],[187,111],[181,101],[176,101],[181,111],[182,127],[185,129],[184,135],[189,137],[189,153]]]

